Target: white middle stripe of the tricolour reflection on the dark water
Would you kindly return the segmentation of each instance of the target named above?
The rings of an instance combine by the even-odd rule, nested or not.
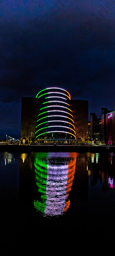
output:
[[[61,166],[47,165],[46,209],[47,215],[60,215],[66,203],[68,164]]]

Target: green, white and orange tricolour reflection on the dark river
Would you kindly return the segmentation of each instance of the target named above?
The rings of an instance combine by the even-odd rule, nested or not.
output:
[[[68,210],[77,156],[77,153],[35,154],[36,183],[40,193],[40,200],[34,200],[37,211],[52,216]]]

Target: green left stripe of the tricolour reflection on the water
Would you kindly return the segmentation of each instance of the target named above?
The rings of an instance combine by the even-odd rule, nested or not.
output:
[[[35,165],[35,175],[36,175],[36,184],[38,186],[38,192],[41,193],[41,201],[34,200],[34,207],[37,211],[44,213],[46,208],[46,183],[47,183],[47,155],[48,153],[44,153],[44,159],[42,154],[36,153],[34,159]]]

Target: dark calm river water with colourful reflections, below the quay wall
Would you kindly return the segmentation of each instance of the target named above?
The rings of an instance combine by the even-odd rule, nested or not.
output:
[[[115,154],[0,153],[3,255],[114,241]]]

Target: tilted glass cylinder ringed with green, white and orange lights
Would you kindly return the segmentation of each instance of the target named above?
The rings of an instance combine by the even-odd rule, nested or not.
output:
[[[40,91],[36,98],[44,98],[36,126],[37,139],[76,139],[72,111],[68,104],[70,94],[51,87]]]

